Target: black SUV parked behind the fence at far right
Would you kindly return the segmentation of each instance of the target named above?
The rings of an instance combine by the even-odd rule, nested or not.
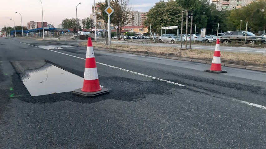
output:
[[[255,45],[256,43],[266,42],[266,40],[262,36],[256,36],[248,31],[246,35],[245,31],[239,30],[225,32],[223,35],[221,35],[220,41],[223,44],[228,44],[231,42],[244,43],[244,41],[246,41],[246,43],[249,45]]]

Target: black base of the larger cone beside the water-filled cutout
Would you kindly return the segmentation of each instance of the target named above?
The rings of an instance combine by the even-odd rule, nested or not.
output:
[[[76,89],[73,91],[73,94],[83,96],[83,97],[96,97],[98,95],[103,95],[103,94],[108,94],[109,90],[107,88],[101,87],[100,91],[95,91],[95,92],[85,92],[81,91],[82,88]]]

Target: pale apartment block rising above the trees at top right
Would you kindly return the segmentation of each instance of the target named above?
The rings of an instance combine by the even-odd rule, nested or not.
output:
[[[231,10],[247,6],[249,3],[254,1],[257,0],[212,0],[212,4],[216,5],[216,9],[218,10]]]

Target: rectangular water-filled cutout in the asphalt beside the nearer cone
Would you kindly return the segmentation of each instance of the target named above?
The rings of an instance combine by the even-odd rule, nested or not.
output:
[[[74,91],[83,78],[58,68],[46,60],[11,62],[32,96]]]

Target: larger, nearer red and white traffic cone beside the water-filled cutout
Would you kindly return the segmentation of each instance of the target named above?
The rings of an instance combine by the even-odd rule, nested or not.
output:
[[[109,90],[100,87],[91,37],[89,37],[87,42],[83,87],[74,90],[73,94],[84,97],[95,97],[106,93],[109,93]]]

